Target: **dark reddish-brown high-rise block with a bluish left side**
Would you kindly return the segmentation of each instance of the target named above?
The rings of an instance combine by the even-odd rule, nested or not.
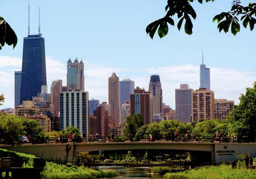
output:
[[[136,87],[134,94],[131,94],[131,115],[140,113],[145,124],[153,121],[153,95],[151,91],[145,91]]]

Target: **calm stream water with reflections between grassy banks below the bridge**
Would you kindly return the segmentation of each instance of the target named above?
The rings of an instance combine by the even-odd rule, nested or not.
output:
[[[151,174],[149,169],[149,167],[99,166],[99,170],[119,172],[122,179],[161,179],[161,175]]]

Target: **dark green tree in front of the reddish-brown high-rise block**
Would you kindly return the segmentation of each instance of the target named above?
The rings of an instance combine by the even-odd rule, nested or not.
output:
[[[141,114],[134,114],[127,116],[124,126],[125,136],[135,136],[138,129],[144,125],[143,117]]]

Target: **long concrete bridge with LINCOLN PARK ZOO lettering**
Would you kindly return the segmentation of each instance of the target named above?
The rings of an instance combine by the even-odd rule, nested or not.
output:
[[[189,152],[190,161],[221,162],[238,160],[237,154],[256,156],[256,144],[253,143],[212,143],[212,142],[92,142],[66,144],[24,144],[22,146],[0,146],[0,148],[21,153],[33,154],[47,160],[77,160],[77,154],[84,151],[118,150],[176,150]],[[73,158],[74,157],[74,158]]]

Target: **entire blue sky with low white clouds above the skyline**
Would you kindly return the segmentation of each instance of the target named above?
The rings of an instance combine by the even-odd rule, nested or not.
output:
[[[166,0],[30,0],[30,34],[45,38],[48,92],[53,80],[66,85],[69,58],[85,63],[85,89],[89,98],[108,101],[108,77],[130,78],[148,90],[150,75],[159,74],[163,102],[175,108],[175,88],[188,83],[199,88],[199,65],[210,68],[215,98],[239,103],[240,93],[256,81],[256,31],[241,28],[234,37],[219,33],[212,19],[228,11],[233,0],[192,3],[197,13],[193,34],[169,26],[169,33],[153,40],[146,26],[165,15]],[[253,0],[252,0],[253,1]],[[248,3],[246,1],[246,3]],[[246,5],[246,4],[245,4]],[[21,70],[23,38],[28,34],[28,0],[0,1],[0,16],[15,30],[18,44],[0,51],[0,108],[14,107],[14,71]],[[177,21],[175,21],[175,25]]]

